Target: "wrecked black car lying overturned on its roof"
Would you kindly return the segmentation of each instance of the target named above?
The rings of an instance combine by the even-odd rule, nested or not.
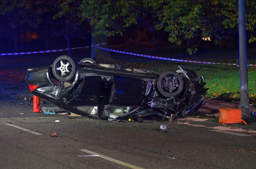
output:
[[[35,96],[75,114],[99,119],[140,119],[148,115],[183,118],[197,111],[207,89],[194,71],[126,69],[59,56],[49,67],[28,69],[26,82]]]

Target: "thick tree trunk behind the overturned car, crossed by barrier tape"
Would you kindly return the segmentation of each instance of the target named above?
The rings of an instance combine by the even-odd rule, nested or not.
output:
[[[95,32],[95,27],[91,26],[92,32]],[[105,35],[92,36],[92,46],[105,43],[99,47],[108,49],[107,37]],[[91,58],[97,60],[99,63],[111,63],[115,60],[111,57],[108,50],[92,47]]]

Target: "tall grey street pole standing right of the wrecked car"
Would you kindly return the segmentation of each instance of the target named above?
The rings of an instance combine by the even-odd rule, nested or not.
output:
[[[246,50],[245,0],[238,0],[239,58],[240,58],[240,107],[243,115],[250,115],[248,68]]]

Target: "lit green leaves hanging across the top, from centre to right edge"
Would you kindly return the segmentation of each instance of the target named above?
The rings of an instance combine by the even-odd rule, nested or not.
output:
[[[70,11],[64,0],[63,10]],[[210,37],[220,44],[238,32],[237,0],[82,0],[77,9],[80,17],[95,27],[95,35],[114,36],[127,27],[137,24],[154,24],[155,30],[169,32],[169,41],[181,45],[184,41],[200,37],[189,53],[195,52],[202,38]],[[251,32],[249,42],[256,41],[256,2],[246,0],[246,28]]]

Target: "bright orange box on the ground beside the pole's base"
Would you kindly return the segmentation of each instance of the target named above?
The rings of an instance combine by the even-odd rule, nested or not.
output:
[[[242,122],[241,109],[223,108],[223,109],[220,109],[219,112],[220,112],[219,123],[222,123],[222,125]]]

